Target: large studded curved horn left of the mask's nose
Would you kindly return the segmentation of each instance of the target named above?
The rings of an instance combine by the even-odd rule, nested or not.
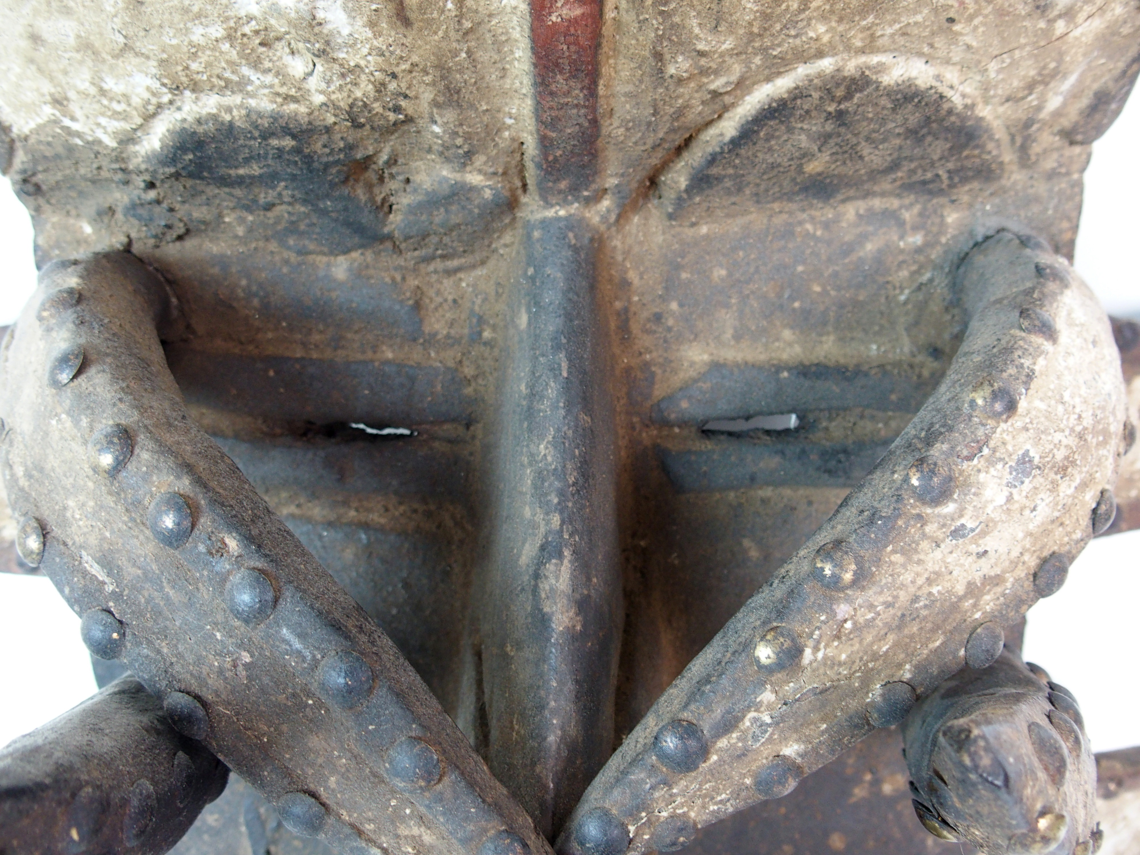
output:
[[[130,255],[42,274],[2,353],[25,560],[93,627],[92,652],[122,659],[294,831],[342,852],[548,850],[388,636],[193,424],[156,334],[169,311]]]

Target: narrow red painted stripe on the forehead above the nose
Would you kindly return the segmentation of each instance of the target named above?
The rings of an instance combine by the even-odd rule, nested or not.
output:
[[[581,196],[594,184],[601,32],[601,0],[530,0],[539,189],[551,201]]]

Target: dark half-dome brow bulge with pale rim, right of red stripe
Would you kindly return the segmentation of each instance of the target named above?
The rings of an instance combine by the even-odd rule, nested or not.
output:
[[[994,180],[996,130],[945,85],[921,63],[805,64],[700,129],[656,179],[658,204],[692,223],[780,202],[921,197]]]

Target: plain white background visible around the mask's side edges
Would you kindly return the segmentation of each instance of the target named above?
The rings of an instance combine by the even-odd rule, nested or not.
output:
[[[1085,173],[1076,268],[1105,308],[1140,318],[1140,96],[1096,145]],[[0,186],[0,324],[35,283],[32,227]],[[1098,751],[1140,744],[1137,610],[1140,531],[1093,540],[1060,593],[1029,612],[1026,659],[1081,700]],[[0,573],[0,746],[95,691],[79,618],[42,578]]]

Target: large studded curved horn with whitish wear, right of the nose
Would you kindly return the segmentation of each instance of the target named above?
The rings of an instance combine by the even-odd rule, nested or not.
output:
[[[1057,589],[1112,521],[1125,443],[1113,335],[1040,241],[958,271],[969,326],[938,389],[834,515],[666,690],[556,849],[677,848],[779,798]]]

